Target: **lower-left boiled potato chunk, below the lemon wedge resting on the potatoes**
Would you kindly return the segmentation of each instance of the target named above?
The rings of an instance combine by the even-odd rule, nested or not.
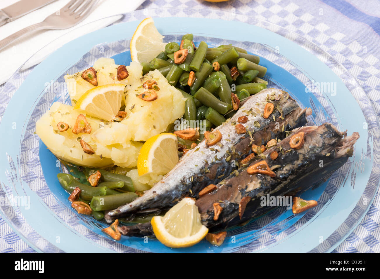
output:
[[[55,156],[63,161],[87,167],[137,166],[137,157],[142,143],[129,141],[123,145],[110,146],[96,143],[92,139],[93,133],[106,125],[98,118],[88,115],[86,119],[91,125],[91,133],[74,134],[72,128],[79,114],[72,106],[55,102],[36,122],[36,133]],[[69,125],[69,129],[64,132],[60,132],[57,127],[61,121]],[[79,138],[87,142],[95,154],[84,153]]]

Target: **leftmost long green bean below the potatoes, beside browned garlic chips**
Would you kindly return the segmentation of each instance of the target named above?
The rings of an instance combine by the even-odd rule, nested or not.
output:
[[[67,173],[58,173],[57,178],[62,187],[69,193],[73,192],[76,187],[81,189],[79,197],[83,200],[91,200],[93,196],[105,195],[106,187],[92,187],[79,183],[72,175]]]

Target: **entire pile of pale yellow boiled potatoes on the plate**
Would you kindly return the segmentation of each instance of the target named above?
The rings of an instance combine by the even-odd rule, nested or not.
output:
[[[169,124],[184,114],[185,98],[158,70],[142,77],[142,66],[132,62],[127,66],[129,76],[119,81],[118,66],[111,58],[100,58],[93,68],[97,70],[98,86],[116,83],[126,85],[122,105],[126,106],[127,117],[122,121],[103,123],[98,118],[86,116],[92,128],[91,133],[76,135],[72,132],[76,118],[79,114],[85,113],[74,110],[72,106],[55,102],[36,122],[38,136],[58,158],[79,166],[116,165],[134,168],[137,166],[138,154],[143,145],[140,141],[164,132]],[[82,79],[81,74],[82,72],[65,76],[73,104],[87,90],[94,88],[92,84]],[[160,88],[157,91],[158,99],[152,102],[137,97],[146,91],[142,88],[142,84],[149,79],[155,80]],[[60,121],[70,126],[67,131],[58,130],[57,123]],[[79,137],[93,148],[95,154],[84,153]],[[142,189],[149,187],[147,184],[152,185],[158,177],[156,179],[138,177],[136,181],[137,179]]]

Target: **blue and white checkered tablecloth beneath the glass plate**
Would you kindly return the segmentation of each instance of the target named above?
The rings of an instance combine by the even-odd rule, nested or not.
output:
[[[378,0],[147,0],[138,9],[236,10],[299,33],[355,76],[380,117],[380,1]],[[3,85],[0,85],[0,91]],[[3,107],[1,108],[3,109]],[[380,252],[380,194],[362,222],[334,252]],[[35,252],[0,216],[0,252]]]

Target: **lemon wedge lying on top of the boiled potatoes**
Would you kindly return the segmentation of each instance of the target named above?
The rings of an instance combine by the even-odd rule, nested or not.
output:
[[[112,121],[120,110],[124,88],[124,84],[107,84],[87,90],[76,102],[74,109]]]

